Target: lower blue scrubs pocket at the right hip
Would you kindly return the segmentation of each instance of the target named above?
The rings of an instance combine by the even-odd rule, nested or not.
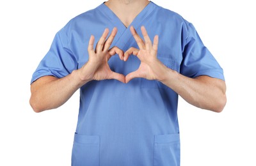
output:
[[[179,133],[155,135],[154,166],[180,166]]]

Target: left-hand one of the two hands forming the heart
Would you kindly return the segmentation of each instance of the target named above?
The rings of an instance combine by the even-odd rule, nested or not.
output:
[[[111,71],[108,61],[111,56],[118,54],[121,60],[124,59],[124,52],[118,47],[109,49],[112,41],[115,38],[117,29],[114,27],[109,38],[106,40],[109,29],[106,28],[100,40],[98,41],[95,50],[93,49],[94,36],[92,35],[88,45],[89,60],[81,68],[81,80],[106,80],[116,79],[125,83],[125,76],[120,73]]]

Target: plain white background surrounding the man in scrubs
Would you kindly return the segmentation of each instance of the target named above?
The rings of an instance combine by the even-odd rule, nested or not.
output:
[[[54,34],[103,1],[0,2],[0,165],[70,165],[79,94],[40,114],[29,106],[30,80]],[[180,99],[182,166],[255,166],[253,1],[173,0],[154,3],[192,22],[223,67],[227,105],[220,114]],[[86,49],[86,48],[85,48]]]

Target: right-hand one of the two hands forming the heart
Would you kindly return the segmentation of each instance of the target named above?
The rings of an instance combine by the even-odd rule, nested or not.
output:
[[[166,73],[168,68],[157,59],[158,36],[154,37],[152,44],[144,26],[141,27],[141,32],[145,41],[140,38],[134,27],[131,26],[130,30],[140,49],[134,47],[128,49],[124,53],[124,61],[127,61],[128,57],[133,54],[140,59],[141,63],[138,70],[126,75],[125,82],[127,83],[134,78],[163,80],[163,73]]]

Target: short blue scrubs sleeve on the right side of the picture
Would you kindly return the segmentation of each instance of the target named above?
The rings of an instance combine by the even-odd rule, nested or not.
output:
[[[191,78],[207,75],[225,80],[220,64],[218,64],[207,47],[204,46],[191,23],[188,24],[188,37],[185,40],[182,56],[183,59],[180,65],[180,73],[182,75]]]

